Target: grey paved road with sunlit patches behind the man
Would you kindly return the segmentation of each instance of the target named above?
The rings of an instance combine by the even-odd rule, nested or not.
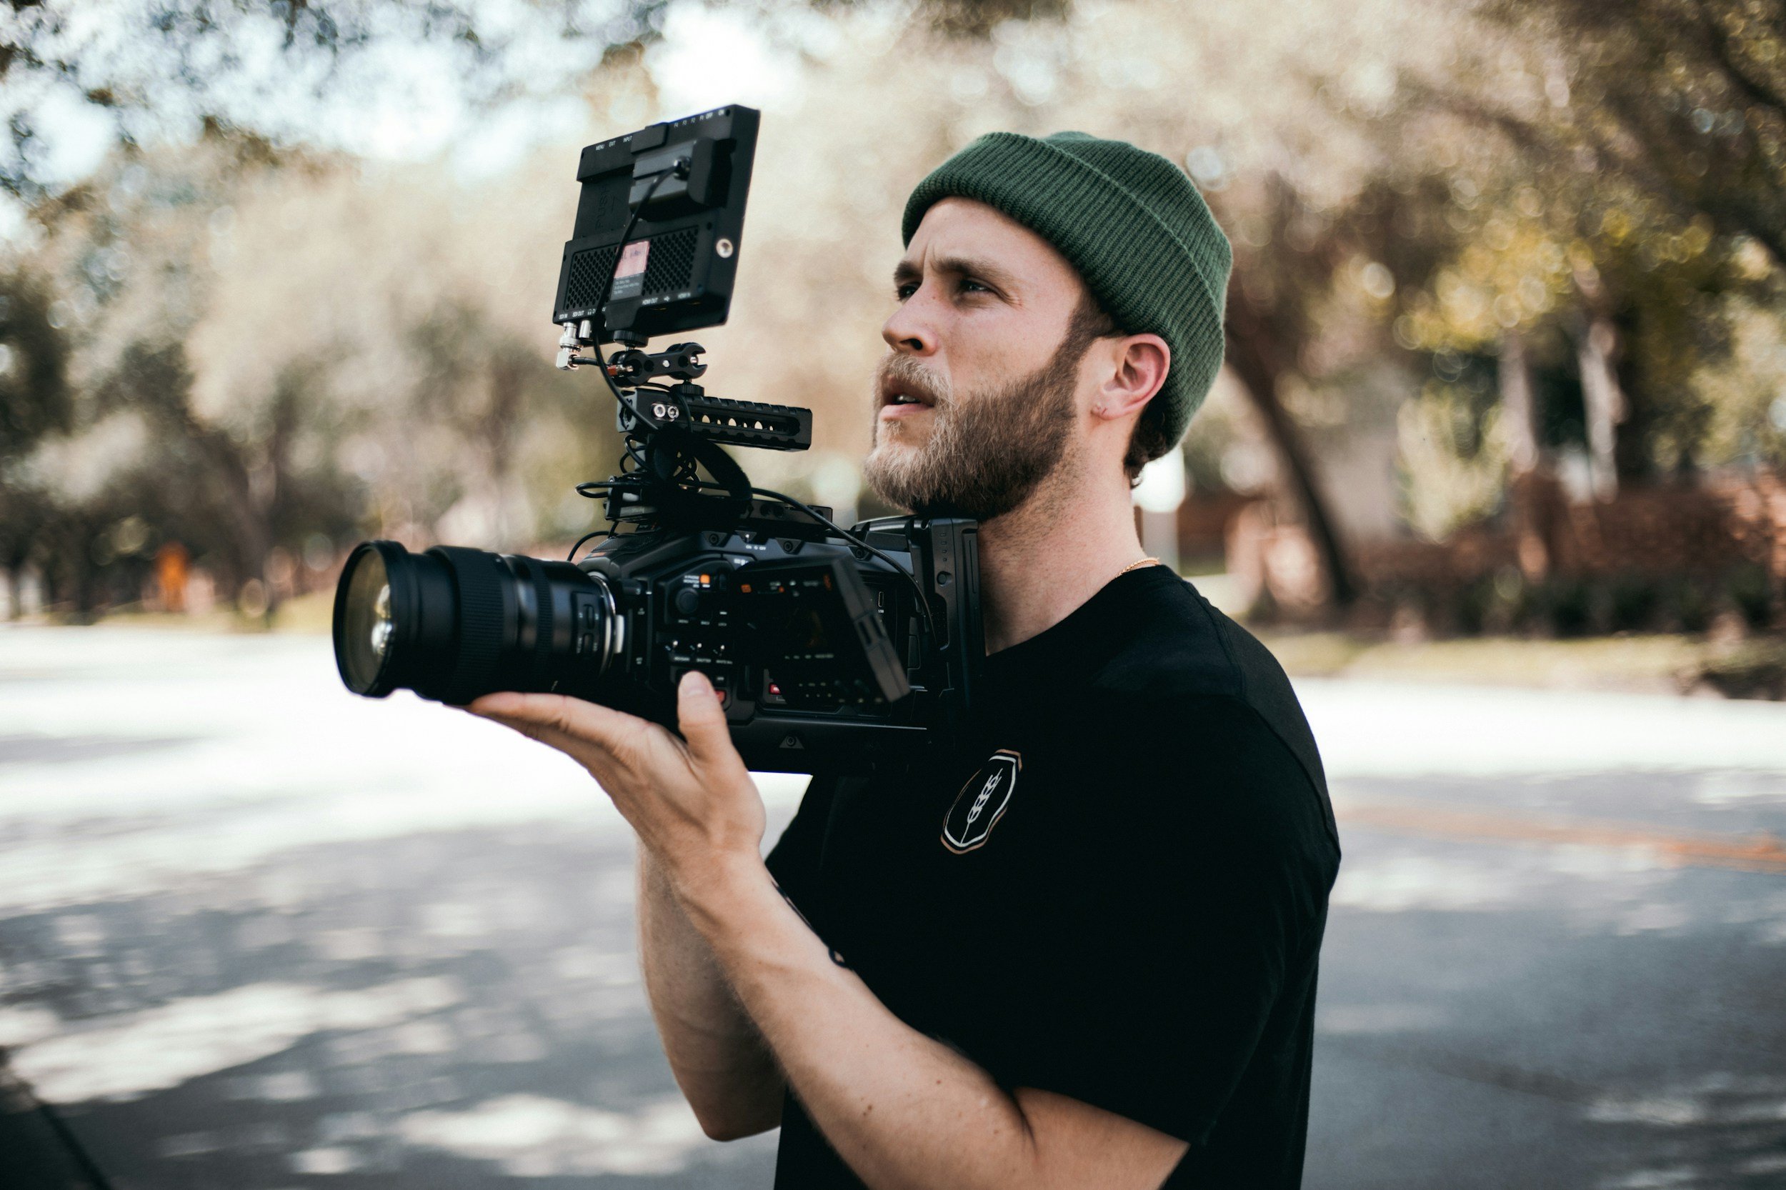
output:
[[[1307,1185],[1786,1186],[1786,708],[1300,691]],[[580,770],[320,638],[0,631],[0,1047],[120,1185],[768,1186],[675,1095],[630,868]]]

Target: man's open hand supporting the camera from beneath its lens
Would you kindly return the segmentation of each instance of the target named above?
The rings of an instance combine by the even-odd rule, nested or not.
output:
[[[564,695],[493,693],[466,709],[588,768],[679,888],[739,858],[761,863],[763,795],[705,675],[691,670],[677,688],[680,740],[636,715]]]

